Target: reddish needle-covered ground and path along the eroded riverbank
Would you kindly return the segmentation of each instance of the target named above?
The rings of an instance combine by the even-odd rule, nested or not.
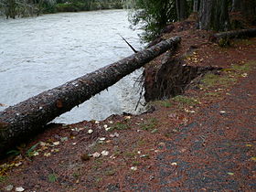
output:
[[[223,68],[218,80],[200,77],[183,96],[151,102],[154,112],[50,125],[1,160],[0,190],[255,191],[256,38],[219,48],[208,32],[178,23],[165,37],[176,35],[176,54]]]

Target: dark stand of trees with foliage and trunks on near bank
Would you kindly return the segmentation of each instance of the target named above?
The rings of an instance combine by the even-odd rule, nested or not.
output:
[[[133,0],[133,25],[144,29],[144,40],[157,37],[169,23],[197,14],[200,29],[227,31],[255,25],[256,0]]]

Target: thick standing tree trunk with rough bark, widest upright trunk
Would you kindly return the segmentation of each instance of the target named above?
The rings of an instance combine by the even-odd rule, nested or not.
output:
[[[201,0],[199,27],[206,30],[229,29],[228,0]]]

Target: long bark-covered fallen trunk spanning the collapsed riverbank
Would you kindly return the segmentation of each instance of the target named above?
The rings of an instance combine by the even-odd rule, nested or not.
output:
[[[166,50],[176,48],[180,40],[172,37],[0,112],[0,155],[32,133],[45,129],[60,114],[89,100]]]

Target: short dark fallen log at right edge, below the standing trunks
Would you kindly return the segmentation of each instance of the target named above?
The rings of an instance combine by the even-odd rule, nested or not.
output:
[[[213,42],[219,42],[220,39],[236,38],[236,37],[256,37],[256,28],[241,29],[236,31],[227,31],[217,33],[210,37]]]

